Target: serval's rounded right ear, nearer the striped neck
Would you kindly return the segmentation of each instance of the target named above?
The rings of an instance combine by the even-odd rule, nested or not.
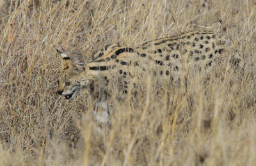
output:
[[[85,61],[81,52],[73,50],[70,54],[70,61],[76,70],[85,70]]]

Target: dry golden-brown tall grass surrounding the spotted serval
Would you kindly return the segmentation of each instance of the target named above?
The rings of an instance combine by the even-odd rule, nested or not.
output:
[[[255,1],[0,2],[0,165],[256,165]],[[243,69],[214,68],[206,85],[171,87],[168,102],[111,98],[118,111],[101,128],[86,89],[56,94],[56,49],[90,59],[191,29],[230,36]]]

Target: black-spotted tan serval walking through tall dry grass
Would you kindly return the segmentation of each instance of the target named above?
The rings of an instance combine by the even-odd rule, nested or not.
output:
[[[137,47],[106,45],[86,62],[80,52],[73,51],[67,56],[57,50],[61,59],[58,93],[70,99],[88,88],[95,100],[95,116],[97,107],[109,115],[106,103],[109,80],[118,78],[122,91],[127,91],[129,80],[152,68],[157,68],[154,75],[177,80],[184,70],[211,69],[229,43],[228,38],[211,31],[191,31],[147,41]]]

